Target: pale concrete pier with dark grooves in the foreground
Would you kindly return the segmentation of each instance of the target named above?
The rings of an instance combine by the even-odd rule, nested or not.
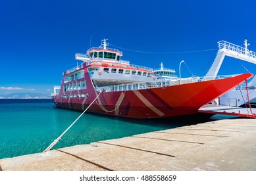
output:
[[[22,171],[256,170],[256,120],[205,122],[0,160]]]

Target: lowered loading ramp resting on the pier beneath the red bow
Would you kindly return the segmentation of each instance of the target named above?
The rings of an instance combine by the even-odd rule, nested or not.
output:
[[[256,108],[250,109],[250,108],[237,107],[237,106],[207,104],[199,108],[198,112],[209,113],[209,114],[224,114],[229,116],[241,116],[245,118],[256,118]]]

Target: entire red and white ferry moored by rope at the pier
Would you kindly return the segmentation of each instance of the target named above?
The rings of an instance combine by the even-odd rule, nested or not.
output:
[[[61,86],[52,94],[56,106],[72,110],[89,107],[88,112],[128,118],[194,115],[204,104],[253,76],[163,80],[153,68],[122,60],[122,52],[108,48],[106,41],[103,39],[99,47],[92,47],[86,54],[75,55],[82,64],[63,73]]]

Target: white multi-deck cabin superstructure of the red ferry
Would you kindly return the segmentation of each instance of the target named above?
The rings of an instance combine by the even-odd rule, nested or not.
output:
[[[107,39],[99,47],[92,47],[86,54],[77,53],[76,60],[83,63],[65,73],[66,81],[77,80],[84,77],[84,70],[88,68],[90,78],[95,87],[120,85],[123,83],[154,81],[153,68],[130,64],[122,60],[122,52],[117,49],[107,48]]]

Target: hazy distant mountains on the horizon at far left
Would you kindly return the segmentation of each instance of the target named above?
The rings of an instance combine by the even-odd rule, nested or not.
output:
[[[51,99],[51,95],[42,93],[10,93],[0,95],[0,99]]]

